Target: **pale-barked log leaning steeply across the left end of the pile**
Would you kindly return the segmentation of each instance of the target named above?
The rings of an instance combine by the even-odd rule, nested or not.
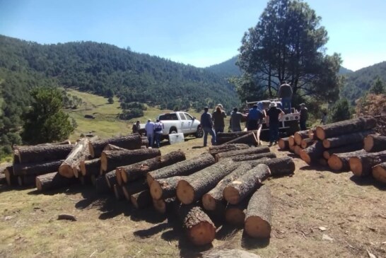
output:
[[[67,156],[62,165],[59,166],[58,172],[60,175],[68,178],[78,175],[77,171],[80,169],[79,165],[81,165],[81,161],[86,160],[89,155],[89,142],[87,138],[83,138],[76,143],[76,146],[71,150],[69,156]]]

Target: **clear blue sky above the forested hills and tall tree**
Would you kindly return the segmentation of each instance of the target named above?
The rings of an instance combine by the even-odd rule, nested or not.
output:
[[[386,61],[385,0],[308,0],[327,53],[357,70]],[[262,0],[0,0],[0,34],[42,44],[90,40],[205,67],[238,54]]]

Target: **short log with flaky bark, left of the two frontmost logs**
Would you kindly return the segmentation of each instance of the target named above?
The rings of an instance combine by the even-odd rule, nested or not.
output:
[[[187,238],[194,245],[207,245],[214,240],[216,226],[199,206],[180,205],[178,216],[187,232]]]

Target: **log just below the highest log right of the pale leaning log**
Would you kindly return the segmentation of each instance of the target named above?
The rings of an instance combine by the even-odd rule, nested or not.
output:
[[[100,156],[100,169],[102,172],[115,170],[124,165],[131,165],[149,158],[160,156],[157,148],[144,148],[127,151],[103,151]]]

